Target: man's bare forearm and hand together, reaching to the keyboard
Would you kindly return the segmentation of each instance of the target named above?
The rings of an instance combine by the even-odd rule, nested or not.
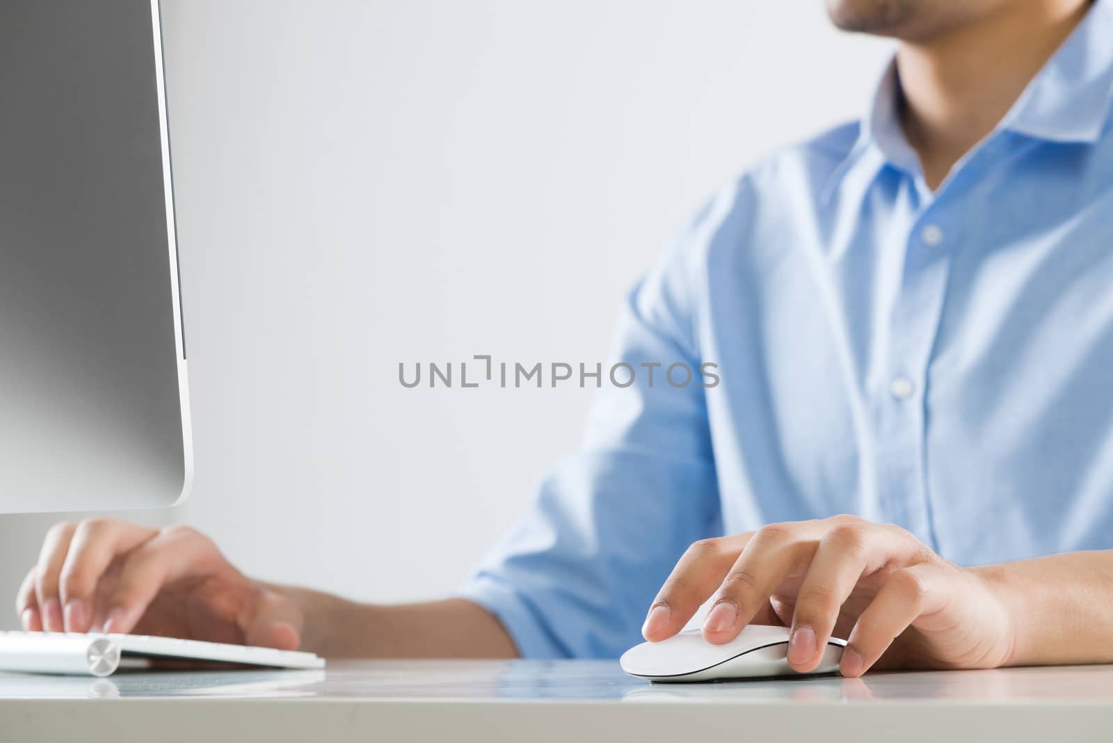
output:
[[[56,524],[16,597],[29,631],[134,632],[327,657],[515,657],[464,598],[377,606],[253,581],[188,526]]]

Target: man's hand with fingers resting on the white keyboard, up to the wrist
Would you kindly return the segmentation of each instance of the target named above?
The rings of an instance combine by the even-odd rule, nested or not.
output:
[[[296,650],[302,611],[205,535],[109,518],[56,524],[16,608],[29,631],[136,633]]]

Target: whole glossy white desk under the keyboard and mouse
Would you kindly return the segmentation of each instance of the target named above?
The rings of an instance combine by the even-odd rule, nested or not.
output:
[[[1113,741],[1113,666],[649,684],[595,661],[0,674],[2,741]]]

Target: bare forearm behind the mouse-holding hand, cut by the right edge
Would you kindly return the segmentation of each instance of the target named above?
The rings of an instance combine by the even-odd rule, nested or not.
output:
[[[974,568],[1012,617],[1007,665],[1113,663],[1113,551]]]

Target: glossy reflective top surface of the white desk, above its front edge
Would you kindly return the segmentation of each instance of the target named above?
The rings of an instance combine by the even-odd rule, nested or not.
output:
[[[334,661],[321,671],[120,672],[110,678],[0,673],[0,700],[141,697],[770,702],[1095,702],[1113,704],[1113,666],[870,673],[654,684],[611,661]],[[1113,736],[1111,736],[1113,740]]]

